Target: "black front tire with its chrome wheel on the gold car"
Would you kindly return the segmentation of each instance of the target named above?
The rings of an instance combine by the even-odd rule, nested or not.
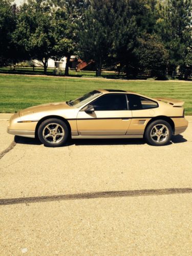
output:
[[[38,138],[45,146],[62,146],[67,142],[69,138],[68,126],[64,121],[60,119],[47,119],[43,121],[38,127]]]

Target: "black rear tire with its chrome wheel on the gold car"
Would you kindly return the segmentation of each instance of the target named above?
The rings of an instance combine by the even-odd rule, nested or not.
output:
[[[163,128],[164,127],[164,128]],[[155,120],[145,130],[144,138],[153,146],[166,145],[172,137],[172,127],[165,120]]]

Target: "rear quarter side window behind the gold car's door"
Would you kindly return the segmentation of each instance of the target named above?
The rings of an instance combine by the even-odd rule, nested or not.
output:
[[[140,97],[139,95],[129,94],[128,99],[129,99],[130,110],[146,110],[146,109],[154,109],[158,107],[157,102]]]

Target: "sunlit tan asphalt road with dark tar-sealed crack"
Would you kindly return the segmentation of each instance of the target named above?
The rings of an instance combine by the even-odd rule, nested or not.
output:
[[[125,139],[60,148],[8,135],[6,118],[0,255],[192,254],[192,117],[163,147]]]

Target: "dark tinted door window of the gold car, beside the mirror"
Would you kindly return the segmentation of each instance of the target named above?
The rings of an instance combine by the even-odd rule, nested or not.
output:
[[[127,101],[124,94],[106,94],[91,102],[95,111],[127,110]]]

